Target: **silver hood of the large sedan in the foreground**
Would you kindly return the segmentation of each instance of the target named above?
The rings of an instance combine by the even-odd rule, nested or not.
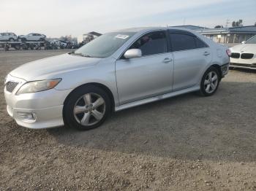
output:
[[[102,58],[86,58],[78,55],[56,55],[43,58],[38,61],[25,63],[10,72],[12,77],[33,81],[44,79],[46,76],[58,76],[58,74],[83,69],[97,64]]]

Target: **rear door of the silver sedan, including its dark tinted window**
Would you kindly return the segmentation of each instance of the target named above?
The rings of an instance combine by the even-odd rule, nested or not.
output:
[[[173,51],[173,91],[193,87],[211,62],[211,49],[199,37],[182,30],[169,30]]]

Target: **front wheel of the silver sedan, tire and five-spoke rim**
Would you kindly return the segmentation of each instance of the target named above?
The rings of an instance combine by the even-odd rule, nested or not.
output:
[[[70,128],[78,130],[97,128],[102,125],[108,114],[110,114],[110,98],[104,90],[97,86],[78,87],[64,103],[64,124]]]

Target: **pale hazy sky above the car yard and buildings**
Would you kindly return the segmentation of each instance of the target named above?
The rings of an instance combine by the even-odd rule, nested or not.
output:
[[[0,31],[78,36],[140,26],[214,27],[256,22],[256,0],[0,0]],[[10,12],[10,9],[12,11]]]

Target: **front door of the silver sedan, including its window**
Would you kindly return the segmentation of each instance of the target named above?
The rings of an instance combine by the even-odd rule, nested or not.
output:
[[[141,58],[116,61],[120,104],[170,93],[173,85],[173,55],[167,51],[166,31],[143,35],[129,49],[138,48]]]

